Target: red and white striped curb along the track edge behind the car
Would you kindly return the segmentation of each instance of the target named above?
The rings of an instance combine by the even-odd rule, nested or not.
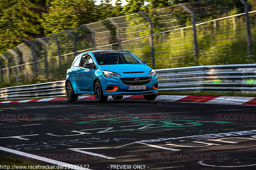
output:
[[[124,96],[124,100],[144,100],[143,95]],[[42,101],[64,101],[66,97],[2,101],[0,103],[21,103],[21,102],[42,102]],[[79,96],[78,100],[95,100],[94,96]],[[108,100],[113,100],[108,97]],[[184,96],[184,95],[158,95],[155,101],[210,103],[210,104],[235,104],[235,105],[256,105],[254,97],[229,97],[229,96]]]

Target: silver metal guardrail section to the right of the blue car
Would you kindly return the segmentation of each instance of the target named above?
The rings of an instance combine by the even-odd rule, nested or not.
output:
[[[157,70],[159,90],[240,92],[256,90],[256,64],[207,65]]]

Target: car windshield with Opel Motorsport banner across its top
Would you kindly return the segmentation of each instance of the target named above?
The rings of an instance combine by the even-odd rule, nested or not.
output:
[[[142,63],[135,55],[123,51],[93,53],[99,65]]]

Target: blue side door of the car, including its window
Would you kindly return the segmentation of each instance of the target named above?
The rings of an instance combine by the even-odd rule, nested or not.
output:
[[[80,67],[77,69],[77,86],[81,92],[88,92],[90,91],[90,86],[92,85],[92,69],[86,69],[84,68],[85,64],[91,64],[93,65],[92,57],[89,55],[83,55],[80,62]]]

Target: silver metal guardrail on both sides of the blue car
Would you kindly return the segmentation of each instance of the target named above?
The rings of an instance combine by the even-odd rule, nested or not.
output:
[[[255,93],[256,64],[207,65],[156,70],[159,90]],[[65,80],[0,89],[0,99],[60,96]]]

